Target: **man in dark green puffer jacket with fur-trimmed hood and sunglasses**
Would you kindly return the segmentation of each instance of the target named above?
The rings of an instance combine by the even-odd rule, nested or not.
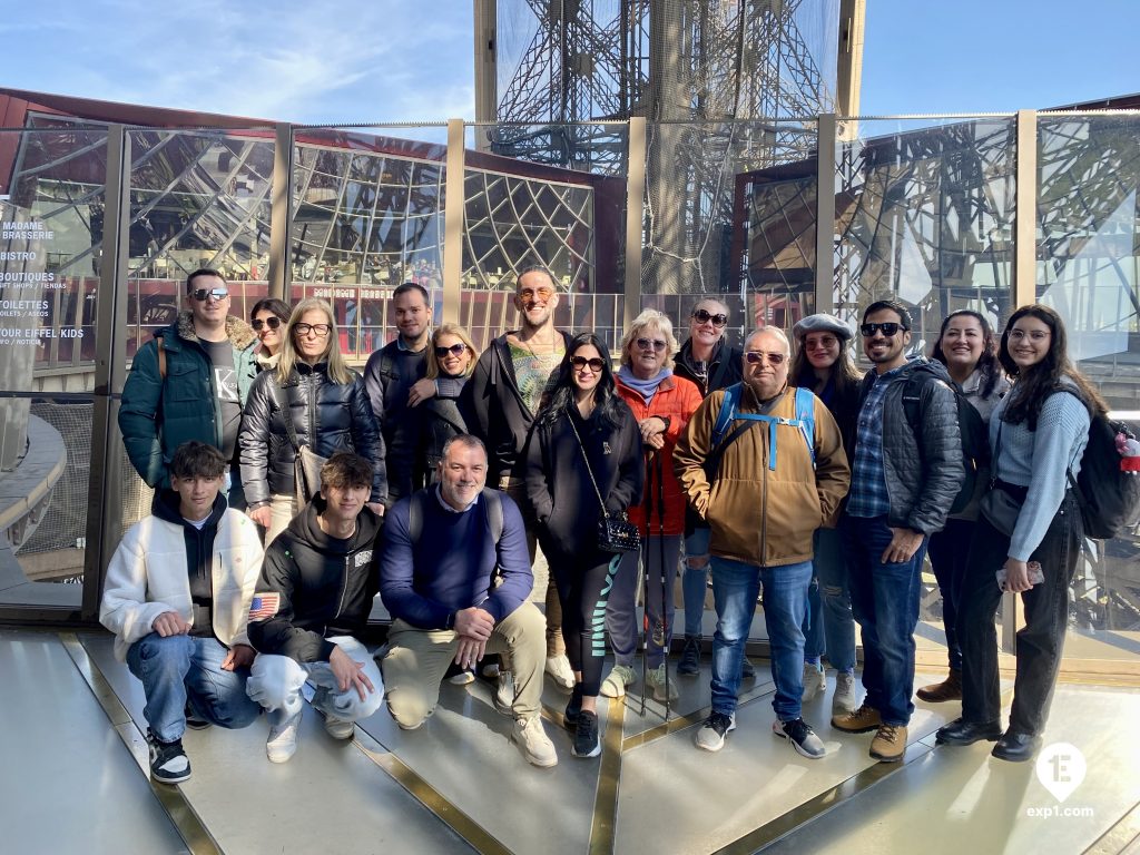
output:
[[[256,374],[258,337],[229,314],[229,286],[217,270],[186,278],[187,310],[135,355],[123,386],[119,427],[131,465],[148,486],[170,486],[174,449],[206,442],[230,462],[230,507],[243,510],[237,431]]]

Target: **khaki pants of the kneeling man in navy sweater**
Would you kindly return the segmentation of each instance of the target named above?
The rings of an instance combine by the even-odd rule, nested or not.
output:
[[[515,718],[539,712],[543,694],[545,644],[543,614],[523,603],[500,620],[487,641],[488,653],[510,653],[514,674]],[[451,629],[417,629],[396,619],[388,633],[389,652],[382,665],[388,709],[397,724],[418,727],[439,702],[439,684],[459,649]]]

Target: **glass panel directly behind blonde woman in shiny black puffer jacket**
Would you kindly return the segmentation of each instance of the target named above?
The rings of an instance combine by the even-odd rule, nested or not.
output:
[[[292,296],[333,303],[353,365],[396,336],[401,283],[427,288],[442,317],[446,142],[440,127],[294,133]]]

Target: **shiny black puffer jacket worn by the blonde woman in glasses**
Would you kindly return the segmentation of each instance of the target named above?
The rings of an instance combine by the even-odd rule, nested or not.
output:
[[[253,381],[237,434],[242,486],[251,508],[269,504],[271,496],[293,494],[296,450],[285,430],[283,408],[288,412],[300,446],[321,457],[356,451],[373,465],[369,502],[388,498],[384,440],[376,430],[364,381],[353,372],[352,382],[333,383],[328,365],[298,361],[284,386],[277,372],[262,372]]]

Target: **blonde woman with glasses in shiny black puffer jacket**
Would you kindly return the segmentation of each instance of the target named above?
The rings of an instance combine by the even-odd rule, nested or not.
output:
[[[300,447],[321,457],[336,451],[367,457],[374,467],[368,506],[383,514],[381,503],[388,495],[384,440],[364,380],[341,357],[332,307],[324,300],[302,300],[284,337],[277,368],[259,374],[250,388],[237,437],[250,519],[267,529],[267,545],[300,511],[294,498]]]

